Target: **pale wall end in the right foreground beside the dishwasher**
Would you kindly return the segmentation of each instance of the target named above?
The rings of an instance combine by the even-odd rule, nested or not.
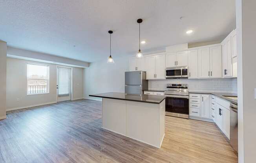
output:
[[[236,0],[239,163],[255,163],[256,160],[255,7],[255,0]]]

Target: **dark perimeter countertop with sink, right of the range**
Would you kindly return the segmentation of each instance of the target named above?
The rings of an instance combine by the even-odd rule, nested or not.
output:
[[[206,91],[188,91],[189,93],[198,93],[198,94],[212,94],[214,96],[217,96],[218,98],[221,98],[223,100],[232,102],[234,104],[237,104],[237,100],[227,98],[225,96],[237,96],[236,93],[230,93],[230,92],[206,92]]]

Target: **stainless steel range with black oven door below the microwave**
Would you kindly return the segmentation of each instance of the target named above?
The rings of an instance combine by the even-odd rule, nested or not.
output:
[[[180,118],[189,118],[189,100],[187,84],[167,84],[165,91],[165,114]]]

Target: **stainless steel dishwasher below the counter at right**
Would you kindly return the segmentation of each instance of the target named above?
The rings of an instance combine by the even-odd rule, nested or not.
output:
[[[230,103],[230,144],[236,152],[238,152],[238,107],[234,103]]]

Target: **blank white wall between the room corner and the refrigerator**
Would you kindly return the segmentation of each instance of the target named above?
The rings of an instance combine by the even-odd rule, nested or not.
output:
[[[90,63],[84,71],[84,98],[100,100],[89,97],[89,94],[102,92],[124,92],[124,72],[129,70],[128,58],[114,58],[115,63],[106,60]]]

